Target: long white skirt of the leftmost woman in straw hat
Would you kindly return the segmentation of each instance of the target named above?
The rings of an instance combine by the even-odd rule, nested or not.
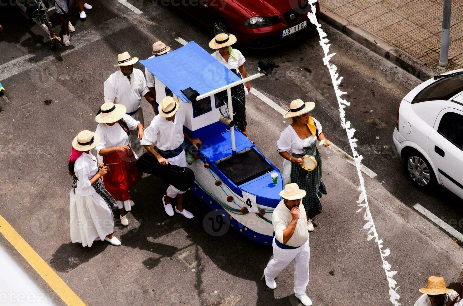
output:
[[[98,193],[80,196],[69,194],[71,241],[92,246],[95,240],[105,240],[114,231],[113,213]]]

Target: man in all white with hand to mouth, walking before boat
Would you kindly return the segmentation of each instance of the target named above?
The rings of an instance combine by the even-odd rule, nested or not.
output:
[[[312,301],[306,294],[309,283],[309,233],[306,211],[304,205],[300,205],[306,192],[299,189],[296,183],[291,183],[285,186],[280,196],[283,200],[278,203],[272,216],[275,231],[273,258],[263,272],[265,283],[270,289],[275,289],[275,277],[294,262],[294,295],[302,305],[311,306]]]

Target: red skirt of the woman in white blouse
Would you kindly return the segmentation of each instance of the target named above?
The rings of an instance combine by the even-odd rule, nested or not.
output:
[[[137,169],[137,160],[132,149],[128,152],[114,152],[104,156],[106,164],[119,162],[119,165],[109,166],[108,173],[103,176],[103,183],[106,190],[116,201],[130,199],[129,190],[132,185],[140,180],[140,172]]]

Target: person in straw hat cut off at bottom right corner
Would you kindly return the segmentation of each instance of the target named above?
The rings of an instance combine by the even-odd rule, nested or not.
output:
[[[457,292],[445,287],[444,277],[429,276],[427,287],[419,289],[419,292],[423,295],[419,297],[414,306],[463,305]]]

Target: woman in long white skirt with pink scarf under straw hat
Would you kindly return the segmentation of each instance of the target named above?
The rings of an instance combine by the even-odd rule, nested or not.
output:
[[[83,247],[92,246],[95,240],[120,246],[119,239],[113,235],[116,202],[100,180],[107,173],[107,167],[90,154],[99,141],[100,137],[93,132],[80,132],[72,142],[68,162],[69,174],[74,178],[69,194],[71,241]]]

